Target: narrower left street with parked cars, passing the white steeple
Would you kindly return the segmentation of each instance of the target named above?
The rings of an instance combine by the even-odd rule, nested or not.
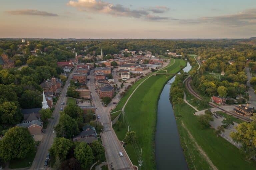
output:
[[[68,77],[67,81],[69,82],[71,78],[73,77],[73,72]],[[68,83],[66,83],[65,86],[63,86],[61,94],[59,96],[59,100],[57,101],[55,105],[55,109],[53,111],[53,119],[49,121],[48,126],[45,130],[44,137],[38,147],[36,156],[34,158],[34,161],[32,163],[32,166],[30,169],[36,170],[36,169],[44,169],[44,161],[46,159],[46,155],[48,154],[48,149],[51,147],[54,139],[54,133],[53,133],[53,127],[58,124],[59,121],[59,111],[61,107],[65,107],[65,105],[62,105],[62,102],[65,102],[66,104],[66,93],[67,93]],[[64,108],[63,107],[63,108]],[[46,168],[45,168],[46,169]]]

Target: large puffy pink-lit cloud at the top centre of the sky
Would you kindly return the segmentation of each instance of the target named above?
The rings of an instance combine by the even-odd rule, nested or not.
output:
[[[147,20],[163,20],[167,19],[167,17],[158,17],[151,16],[150,11],[147,9],[131,9],[130,7],[124,7],[120,4],[112,4],[109,2],[103,2],[101,0],[77,0],[77,1],[69,1],[67,3],[68,6],[76,7],[80,11],[87,11],[92,13],[104,13],[112,16],[123,16],[123,17],[133,17],[133,18],[145,18]],[[167,7],[158,6],[155,7],[155,12],[151,10],[153,13],[163,13],[167,11]]]

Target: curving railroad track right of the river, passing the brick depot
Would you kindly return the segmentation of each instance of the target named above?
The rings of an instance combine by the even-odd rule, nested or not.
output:
[[[202,100],[202,97],[200,97],[200,96],[192,89],[192,87],[191,87],[191,85],[190,85],[190,81],[191,81],[191,77],[189,77],[189,78],[185,81],[185,86],[186,86],[186,88],[187,88],[188,91],[189,91],[191,94],[193,94],[196,98],[198,98],[199,100]],[[214,104],[214,103],[212,103],[212,102],[210,102],[209,105],[212,106],[212,107],[218,108],[218,109],[220,109],[220,110],[222,110],[222,111],[224,111],[224,112],[226,112],[226,113],[228,113],[228,114],[230,114],[230,115],[232,115],[232,116],[238,117],[238,118],[240,118],[240,119],[242,119],[242,120],[244,120],[244,121],[247,121],[247,122],[252,122],[252,121],[253,121],[253,120],[248,119],[248,118],[246,118],[246,117],[243,117],[243,116],[241,116],[241,115],[239,115],[239,114],[236,114],[236,113],[233,113],[233,112],[231,112],[231,111],[225,110],[225,109],[219,107],[218,105],[216,105],[216,104]]]

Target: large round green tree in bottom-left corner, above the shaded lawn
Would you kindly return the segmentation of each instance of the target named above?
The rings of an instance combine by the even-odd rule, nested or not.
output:
[[[35,142],[27,128],[10,128],[0,140],[0,158],[5,162],[14,158],[25,158],[35,150]]]

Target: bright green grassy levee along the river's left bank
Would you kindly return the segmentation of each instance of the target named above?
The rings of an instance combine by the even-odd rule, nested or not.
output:
[[[173,62],[171,62],[172,64]],[[181,59],[175,59],[175,63],[166,68],[168,73],[178,73],[182,67],[186,65],[186,62]],[[161,71],[163,72],[163,71]],[[125,147],[130,159],[134,165],[138,165],[138,151],[140,148],[142,151],[143,167],[144,169],[155,169],[155,157],[154,157],[154,139],[155,139],[155,127],[157,120],[157,106],[159,96],[168,79],[165,75],[151,76],[143,84],[141,84],[137,90],[133,93],[127,105],[125,106],[125,126],[129,125],[130,130],[136,132],[138,137],[138,144],[132,146],[131,144]],[[137,82],[138,83],[138,82]],[[134,88],[137,86],[134,86]],[[134,88],[130,88],[128,92],[132,92]],[[128,97],[127,97],[128,98]],[[123,98],[125,101],[127,98]],[[125,103],[122,102],[122,103]],[[121,109],[119,102],[119,108]],[[122,121],[122,116],[120,116]],[[115,129],[115,128],[114,128]],[[116,134],[120,140],[123,140],[127,132],[127,128],[121,128],[120,131],[116,131]]]

